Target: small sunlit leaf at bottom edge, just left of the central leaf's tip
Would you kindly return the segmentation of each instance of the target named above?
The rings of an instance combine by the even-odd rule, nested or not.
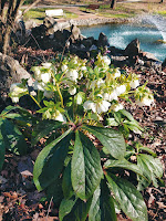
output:
[[[72,197],[71,199],[62,200],[62,202],[60,204],[60,212],[59,212],[60,221],[62,221],[63,218],[72,211],[76,200],[77,200],[77,198],[75,198],[75,197]]]

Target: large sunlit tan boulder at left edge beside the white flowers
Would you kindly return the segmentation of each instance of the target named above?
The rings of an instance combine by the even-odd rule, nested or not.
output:
[[[0,53],[0,95],[6,101],[10,85],[20,83],[21,78],[29,78],[29,86],[32,85],[31,75],[11,56]]]

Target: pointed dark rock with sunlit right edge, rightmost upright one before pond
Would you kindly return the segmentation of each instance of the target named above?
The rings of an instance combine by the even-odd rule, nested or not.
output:
[[[133,40],[125,49],[124,54],[128,56],[136,56],[139,53],[139,41],[138,39]]]

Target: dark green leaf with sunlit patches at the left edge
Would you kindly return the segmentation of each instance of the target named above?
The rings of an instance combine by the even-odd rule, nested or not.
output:
[[[3,124],[1,125],[1,134],[6,148],[18,155],[27,154],[27,143],[17,125],[8,119],[4,119]]]

